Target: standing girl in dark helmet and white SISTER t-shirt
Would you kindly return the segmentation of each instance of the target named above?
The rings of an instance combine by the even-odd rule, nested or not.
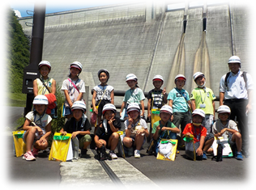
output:
[[[97,125],[94,129],[94,134],[100,125],[100,120],[102,116],[102,108],[105,106],[106,103],[113,104],[113,87],[109,86],[107,82],[109,81],[109,71],[108,70],[99,70],[98,71],[98,78],[100,80],[100,85],[97,85],[93,88],[93,95],[92,95],[92,106],[93,112],[97,114]],[[96,106],[98,108],[96,108]]]

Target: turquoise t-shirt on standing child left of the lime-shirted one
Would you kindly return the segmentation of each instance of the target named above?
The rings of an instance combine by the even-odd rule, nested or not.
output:
[[[173,90],[169,92],[167,99],[173,100],[173,112],[188,112],[187,101],[190,100],[190,95],[186,90],[173,88]]]

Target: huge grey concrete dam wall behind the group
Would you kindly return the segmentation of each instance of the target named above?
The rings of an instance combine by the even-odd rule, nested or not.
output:
[[[80,61],[80,78],[90,90],[99,83],[97,71],[105,68],[116,91],[128,90],[125,78],[130,73],[146,92],[153,88],[156,74],[164,77],[168,92],[175,76],[185,74],[190,93],[193,74],[202,71],[206,87],[218,96],[228,58],[237,55],[241,70],[256,82],[256,10],[251,2],[229,0],[168,10],[169,2],[126,2],[46,15],[43,60],[52,64],[49,76],[61,86],[70,63]],[[32,34],[26,24],[32,17],[19,23],[25,34]],[[121,102],[122,97],[115,98],[116,104]]]

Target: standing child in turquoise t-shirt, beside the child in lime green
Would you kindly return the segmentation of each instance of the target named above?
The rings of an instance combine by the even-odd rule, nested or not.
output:
[[[167,99],[169,100],[169,106],[173,108],[173,124],[176,125],[177,128],[179,128],[181,125],[182,134],[186,125],[191,122],[190,95],[186,90],[183,89],[186,84],[186,77],[184,75],[178,74],[175,77],[174,83],[176,87],[169,92]],[[185,150],[182,137],[180,148]]]

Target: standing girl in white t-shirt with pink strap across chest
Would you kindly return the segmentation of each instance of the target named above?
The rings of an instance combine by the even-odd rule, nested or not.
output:
[[[70,64],[69,78],[62,83],[62,91],[64,91],[66,101],[64,108],[64,115],[67,119],[72,116],[71,107],[77,100],[83,99],[83,93],[85,92],[84,82],[79,78],[79,74],[82,72],[83,65],[79,61],[75,61]]]

